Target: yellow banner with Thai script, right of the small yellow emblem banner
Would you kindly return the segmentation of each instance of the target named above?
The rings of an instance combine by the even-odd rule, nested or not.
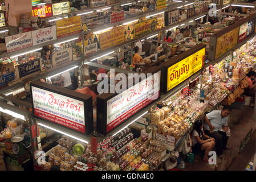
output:
[[[145,20],[134,25],[134,38],[156,30],[156,18]]]

